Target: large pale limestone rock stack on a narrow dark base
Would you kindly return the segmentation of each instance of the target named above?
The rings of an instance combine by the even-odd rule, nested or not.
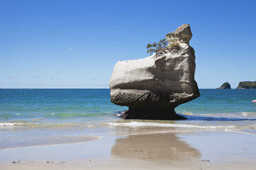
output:
[[[118,61],[109,87],[111,102],[129,106],[125,119],[184,119],[174,108],[200,96],[194,80],[195,51],[189,24],[166,35],[169,46],[153,56]]]

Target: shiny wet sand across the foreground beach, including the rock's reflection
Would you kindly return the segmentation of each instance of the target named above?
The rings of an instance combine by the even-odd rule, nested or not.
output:
[[[256,135],[180,132],[0,149],[4,169],[255,169]]]

